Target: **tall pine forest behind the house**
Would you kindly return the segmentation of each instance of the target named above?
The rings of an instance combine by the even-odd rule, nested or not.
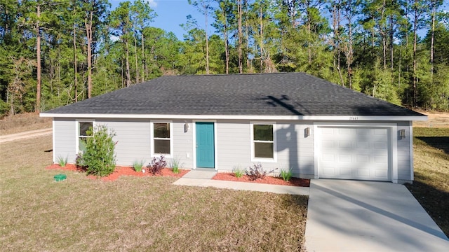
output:
[[[148,1],[112,9],[107,0],[3,0],[0,115],[39,113],[163,75],[279,71],[449,110],[447,1],[188,1],[201,20],[188,15],[180,39],[152,27]]]

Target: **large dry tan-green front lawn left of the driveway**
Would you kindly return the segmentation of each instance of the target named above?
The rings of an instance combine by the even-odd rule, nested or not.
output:
[[[304,251],[307,197],[87,179],[44,169],[51,148],[0,144],[0,251]]]

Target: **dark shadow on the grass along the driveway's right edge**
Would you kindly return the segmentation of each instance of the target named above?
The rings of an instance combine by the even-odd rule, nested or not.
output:
[[[419,176],[418,174],[416,175]],[[420,181],[414,181],[413,185],[407,183],[405,186],[443,230],[445,235],[449,237],[449,193]]]

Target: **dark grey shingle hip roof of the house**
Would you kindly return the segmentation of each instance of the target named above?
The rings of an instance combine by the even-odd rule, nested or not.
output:
[[[307,73],[163,76],[44,113],[423,116]]]

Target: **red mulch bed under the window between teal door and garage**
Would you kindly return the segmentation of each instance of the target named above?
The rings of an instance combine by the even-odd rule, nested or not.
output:
[[[298,179],[291,178],[289,181],[284,181],[282,178],[274,176],[265,176],[264,179],[257,179],[251,181],[248,176],[243,175],[237,178],[232,173],[219,172],[212,179],[222,180],[222,181],[239,181],[239,182],[250,182],[250,183],[266,183],[271,185],[281,185],[281,186],[310,186],[310,179]]]

